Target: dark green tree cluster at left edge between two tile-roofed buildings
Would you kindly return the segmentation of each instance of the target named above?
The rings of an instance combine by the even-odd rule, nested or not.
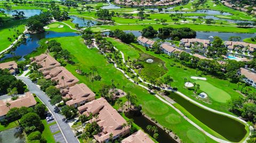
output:
[[[26,89],[25,83],[17,80],[8,70],[0,69],[0,81],[0,95],[13,92],[13,90],[15,90],[16,94],[24,94]]]

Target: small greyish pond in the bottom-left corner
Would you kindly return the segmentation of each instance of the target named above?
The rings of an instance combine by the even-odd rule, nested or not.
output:
[[[25,143],[25,135],[22,134],[19,128],[11,128],[0,132],[1,143]]]

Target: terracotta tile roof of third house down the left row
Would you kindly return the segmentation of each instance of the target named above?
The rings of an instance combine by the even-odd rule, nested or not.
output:
[[[66,104],[69,106],[95,97],[94,92],[92,92],[92,90],[88,88],[84,83],[76,84],[75,86],[65,90],[68,91],[64,98],[71,98],[71,100],[66,102]]]

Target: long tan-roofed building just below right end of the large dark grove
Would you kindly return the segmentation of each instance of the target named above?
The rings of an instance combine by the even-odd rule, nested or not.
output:
[[[181,39],[180,46],[184,46],[187,48],[194,48],[195,46],[201,47],[201,48],[207,48],[208,46],[210,46],[210,40],[198,39],[198,38]]]

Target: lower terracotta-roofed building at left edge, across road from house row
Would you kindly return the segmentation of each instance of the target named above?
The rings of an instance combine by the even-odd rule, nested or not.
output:
[[[7,103],[10,103],[10,107],[6,106]],[[19,96],[19,98],[16,100],[11,100],[11,99],[0,100],[0,120],[5,118],[5,115],[8,113],[8,111],[11,108],[14,108],[14,107],[19,108],[22,106],[31,107],[34,105],[36,105],[36,100],[30,92],[26,92],[25,95]]]

